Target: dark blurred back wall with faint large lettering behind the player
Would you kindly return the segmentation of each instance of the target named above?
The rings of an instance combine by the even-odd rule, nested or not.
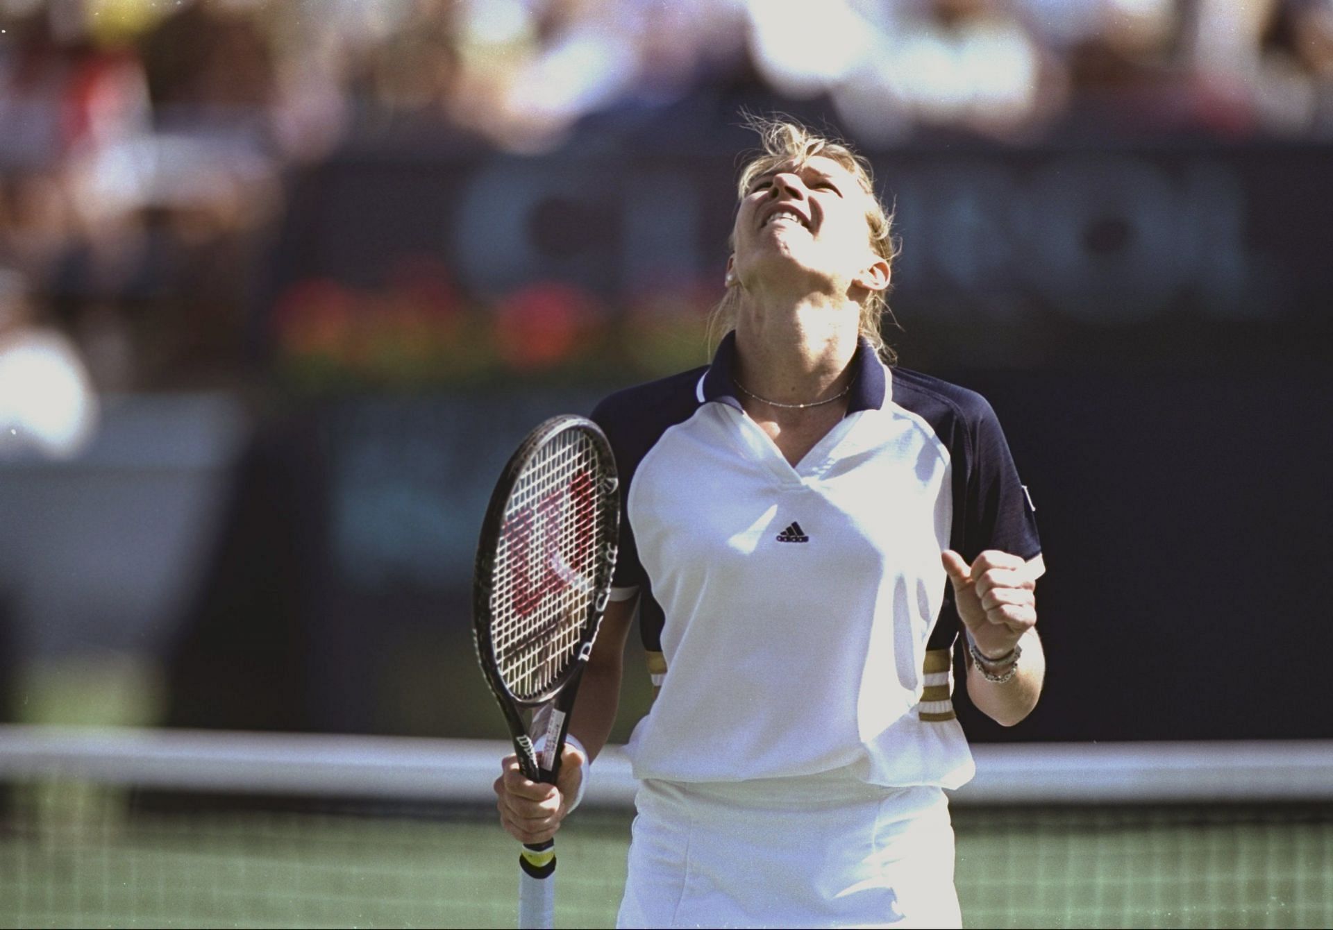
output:
[[[545,157],[348,153],[293,181],[251,326],[277,370],[303,361],[280,314],[304,312],[312,282],[383,292],[423,254],[449,269],[456,314],[567,288],[592,354],[573,374],[460,361],[408,393],[292,394],[236,469],[175,656],[172,722],[495,734],[467,609],[492,478],[541,417],[706,358],[700,308],[720,292],[734,151],[750,144],[585,141]],[[1049,566],[1046,694],[1013,730],[964,706],[974,738],[1333,735],[1330,155],[874,156],[902,238],[889,340],[902,365],[992,401]],[[656,313],[689,333],[685,350],[641,326],[645,293],[676,300]],[[373,312],[349,300],[340,312]],[[520,317],[516,338],[540,338],[548,316]],[[629,678],[621,738],[647,701],[647,676]]]

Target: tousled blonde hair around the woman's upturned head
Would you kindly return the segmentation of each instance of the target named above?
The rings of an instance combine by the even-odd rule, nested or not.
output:
[[[869,199],[869,207],[865,211],[865,224],[869,233],[870,249],[888,261],[890,266],[893,265],[893,258],[898,253],[897,242],[893,238],[893,215],[884,208],[884,204],[874,195],[874,179],[870,173],[870,163],[864,156],[857,155],[844,140],[821,136],[789,117],[772,119],[745,113],[744,120],[746,128],[758,133],[762,148],[741,167],[740,179],[736,184],[737,200],[744,200],[745,191],[756,176],[772,171],[778,165],[796,163],[800,167],[814,156],[832,159],[842,168],[846,168]],[[726,244],[732,249],[736,248],[734,231],[728,237]],[[713,312],[708,317],[708,341],[710,346],[716,346],[722,336],[736,328],[736,310],[740,306],[740,288],[732,286],[726,289],[726,293],[722,294],[722,298],[713,308]],[[861,336],[870,341],[876,352],[885,361],[893,364],[896,361],[894,352],[885,345],[884,334],[880,332],[880,324],[885,313],[889,313],[892,318],[888,305],[888,290],[869,292],[869,296],[861,304],[860,329]]]

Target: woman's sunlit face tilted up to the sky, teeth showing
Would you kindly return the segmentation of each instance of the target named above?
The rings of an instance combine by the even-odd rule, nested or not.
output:
[[[868,199],[846,168],[822,156],[756,175],[736,213],[729,269],[746,288],[813,277],[845,293],[880,261],[870,248]]]

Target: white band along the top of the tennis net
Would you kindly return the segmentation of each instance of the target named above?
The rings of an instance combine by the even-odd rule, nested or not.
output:
[[[77,778],[239,794],[491,803],[507,741],[0,725],[0,778]],[[1333,739],[1009,743],[973,747],[957,805],[1333,801]],[[587,806],[629,807],[620,746]]]

